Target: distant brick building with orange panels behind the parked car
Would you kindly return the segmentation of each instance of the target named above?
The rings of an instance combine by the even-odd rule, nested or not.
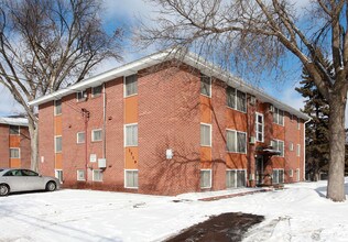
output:
[[[0,118],[0,167],[30,168],[30,135],[24,118]]]

